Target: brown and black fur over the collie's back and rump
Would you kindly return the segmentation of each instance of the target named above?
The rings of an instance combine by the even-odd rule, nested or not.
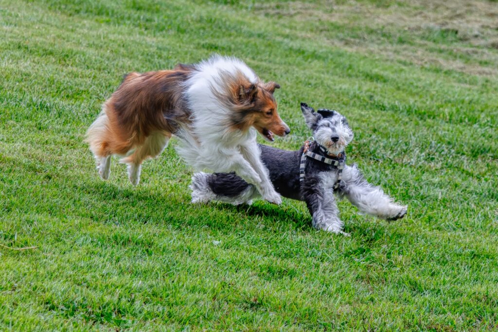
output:
[[[192,70],[191,66],[178,65],[174,70],[126,75],[104,103],[107,118],[101,120],[105,123],[92,125],[87,132],[92,151],[98,156],[125,154],[153,132],[169,137],[177,129],[176,122],[188,123],[182,83]]]

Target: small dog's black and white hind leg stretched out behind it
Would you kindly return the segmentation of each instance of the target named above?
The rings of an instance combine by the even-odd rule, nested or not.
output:
[[[195,173],[190,184],[192,203],[220,201],[233,205],[251,204],[259,197],[253,185],[232,173]]]

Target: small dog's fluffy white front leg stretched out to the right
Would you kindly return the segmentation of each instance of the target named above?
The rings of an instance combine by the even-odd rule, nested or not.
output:
[[[344,168],[342,181],[339,194],[346,196],[361,212],[385,220],[397,220],[406,215],[406,206],[393,203],[380,187],[368,183],[356,165]]]

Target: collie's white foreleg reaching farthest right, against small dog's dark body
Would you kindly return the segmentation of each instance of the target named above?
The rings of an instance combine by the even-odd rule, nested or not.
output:
[[[261,162],[261,151],[259,150],[257,144],[254,142],[249,145],[242,145],[241,152],[261,179],[259,183],[254,183],[254,185],[263,199],[270,203],[280,205],[282,203],[282,198],[275,191],[275,188],[273,188],[273,184],[271,183],[268,175],[268,170]]]

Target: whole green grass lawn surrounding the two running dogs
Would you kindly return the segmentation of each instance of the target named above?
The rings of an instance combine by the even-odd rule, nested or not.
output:
[[[0,0],[0,331],[498,329],[496,1]],[[133,188],[83,138],[123,74],[217,52],[355,131],[408,215],[191,205],[173,144]],[[22,251],[9,248],[36,246]],[[7,248],[8,247],[8,248]]]

